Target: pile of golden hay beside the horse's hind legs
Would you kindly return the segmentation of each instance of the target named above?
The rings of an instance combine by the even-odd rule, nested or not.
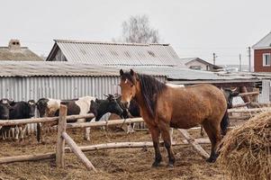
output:
[[[261,112],[222,139],[218,162],[233,179],[271,179],[271,112]]]

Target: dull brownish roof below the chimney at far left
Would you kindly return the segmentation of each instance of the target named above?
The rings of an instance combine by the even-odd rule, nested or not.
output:
[[[21,47],[21,49],[0,47],[0,60],[41,61],[43,59],[27,47]]]

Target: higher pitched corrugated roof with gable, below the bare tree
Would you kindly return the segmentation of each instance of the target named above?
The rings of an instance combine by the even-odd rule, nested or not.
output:
[[[68,62],[95,65],[176,66],[178,56],[169,44],[109,43],[78,40],[55,40]],[[53,48],[47,60],[54,60]]]

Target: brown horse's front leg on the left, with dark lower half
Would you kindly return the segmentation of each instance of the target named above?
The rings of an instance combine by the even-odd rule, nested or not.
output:
[[[153,141],[153,148],[155,151],[155,160],[152,163],[153,167],[157,167],[159,166],[160,162],[162,161],[162,156],[160,153],[160,149],[159,149],[159,135],[160,135],[160,130],[158,129],[158,127],[149,127],[149,131],[151,133],[151,138]]]

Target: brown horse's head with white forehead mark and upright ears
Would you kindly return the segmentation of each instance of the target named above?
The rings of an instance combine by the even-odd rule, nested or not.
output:
[[[130,105],[131,99],[135,96],[137,92],[137,75],[131,69],[130,72],[123,72],[120,70],[121,75],[121,89],[122,89],[122,103],[127,108]]]

